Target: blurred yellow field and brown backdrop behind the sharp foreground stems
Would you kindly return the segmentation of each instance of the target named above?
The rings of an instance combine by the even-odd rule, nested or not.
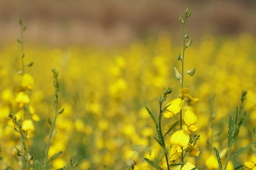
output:
[[[194,39],[186,49],[184,67],[195,67],[196,72],[193,77],[185,75],[184,87],[199,99],[190,108],[198,117],[195,133],[201,136],[196,144],[201,152],[198,169],[218,169],[213,146],[224,156],[227,153],[227,122],[240,105],[242,89],[248,91],[248,119],[234,150],[252,142],[256,0],[0,0],[0,170],[19,169],[15,147],[20,146],[20,135],[9,118],[9,104],[20,119],[37,118],[26,144],[42,163],[48,117],[53,119],[55,110],[51,68],[59,72],[59,108],[65,110],[58,116],[49,157],[64,153],[49,164],[50,170],[71,169],[70,158],[79,161],[78,170],[124,170],[133,160],[135,170],[152,170],[143,158],[163,167],[163,151],[154,141],[154,122],[145,106],[156,117],[158,97],[172,86],[163,103],[167,105],[180,93],[174,67],[181,73],[179,16],[184,18],[187,7],[192,14],[186,31]],[[20,18],[26,25],[24,63],[34,63],[24,69],[27,79],[17,74],[22,70]],[[21,92],[26,101],[18,99]],[[163,118],[163,133],[176,118]],[[168,146],[170,134],[165,138]],[[252,157],[248,148],[227,170]],[[195,164],[193,157],[186,160]]]

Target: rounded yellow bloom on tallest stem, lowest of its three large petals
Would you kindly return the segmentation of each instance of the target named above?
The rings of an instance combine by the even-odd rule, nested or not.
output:
[[[171,143],[181,147],[186,147],[186,145],[189,143],[189,133],[185,130],[176,131],[171,136]]]

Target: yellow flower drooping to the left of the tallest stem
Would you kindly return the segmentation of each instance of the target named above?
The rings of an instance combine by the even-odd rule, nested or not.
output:
[[[168,103],[169,107],[166,108],[166,111],[163,113],[163,115],[167,119],[172,119],[175,114],[179,113],[184,105],[184,100],[182,99],[174,99],[171,102]],[[168,106],[167,105],[167,106]]]

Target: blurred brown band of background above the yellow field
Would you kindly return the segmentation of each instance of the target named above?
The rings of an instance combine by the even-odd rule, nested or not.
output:
[[[181,36],[179,15],[192,10],[191,35],[256,35],[256,0],[0,0],[0,43],[20,36],[58,45],[125,45],[135,38],[169,31]]]

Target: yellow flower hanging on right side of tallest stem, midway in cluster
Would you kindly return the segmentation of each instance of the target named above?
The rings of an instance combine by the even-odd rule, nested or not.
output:
[[[184,121],[188,126],[188,130],[190,132],[195,132],[196,130],[198,130],[198,128],[195,126],[195,124],[197,123],[197,116],[195,116],[195,113],[189,110],[183,110],[183,113]]]

